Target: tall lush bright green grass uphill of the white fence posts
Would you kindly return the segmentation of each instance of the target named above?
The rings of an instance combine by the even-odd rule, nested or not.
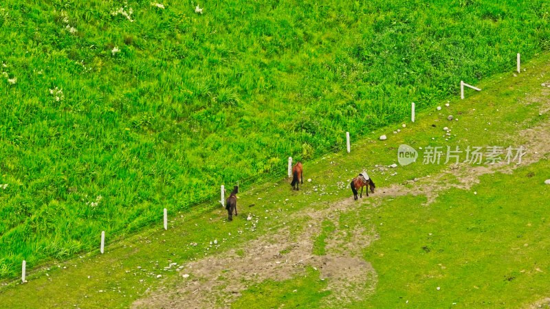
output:
[[[542,0],[162,4],[0,4],[0,277],[276,179],[550,47]]]

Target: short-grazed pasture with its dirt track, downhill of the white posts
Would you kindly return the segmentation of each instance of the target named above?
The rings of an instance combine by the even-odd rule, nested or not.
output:
[[[517,77],[484,80],[481,93],[450,100],[448,107],[441,103],[441,111],[420,112],[406,128],[376,130],[349,154],[310,161],[305,177],[312,181],[299,192],[283,179],[245,189],[232,222],[221,207],[181,210],[170,216],[168,231],[157,220],[103,255],[95,249],[29,271],[25,284],[5,282],[0,304],[548,306],[550,89],[542,84],[550,83],[550,57],[524,67]],[[450,114],[459,120],[449,122]],[[443,126],[453,134],[444,135]],[[391,134],[397,128],[401,133]],[[382,133],[390,133],[387,141],[377,139]],[[381,169],[396,161],[399,144],[418,150],[523,145],[529,151],[517,166],[418,161]],[[347,182],[362,170],[377,189],[355,202]],[[339,262],[347,264],[338,268]]]

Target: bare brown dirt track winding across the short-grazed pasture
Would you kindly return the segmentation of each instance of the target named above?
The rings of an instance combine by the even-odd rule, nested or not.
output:
[[[542,103],[540,113],[550,111],[549,90],[542,91],[543,96],[537,102]],[[534,98],[534,97],[533,97]],[[542,101],[541,101],[542,100]],[[523,102],[530,104],[531,102]],[[511,173],[518,166],[529,165],[539,161],[550,152],[550,123],[519,132],[520,139],[527,154],[522,157],[522,164],[497,163],[494,165],[472,166],[461,163],[450,165],[440,174],[426,176],[404,184],[393,184],[377,188],[371,198],[353,201],[347,198],[326,209],[304,209],[289,216],[307,216],[307,227],[300,235],[293,235],[288,227],[276,235],[263,235],[252,240],[239,249],[232,249],[208,258],[189,262],[180,268],[181,281],[175,288],[162,288],[151,293],[149,297],[139,299],[134,307],[164,308],[212,308],[230,306],[241,291],[250,284],[259,284],[265,280],[284,280],[304,273],[306,266],[317,268],[322,278],[329,278],[328,289],[331,296],[326,297],[327,306],[344,306],[351,301],[361,299],[374,293],[377,275],[371,264],[358,258],[360,250],[377,239],[373,230],[355,229],[352,240],[344,240],[346,232],[338,226],[340,213],[353,211],[359,207],[377,207],[384,198],[412,195],[426,195],[427,203],[436,200],[438,194],[452,187],[470,190],[479,183],[483,174],[495,172]],[[451,179],[451,181],[449,180]],[[336,231],[327,240],[327,255],[314,255],[314,238],[321,232],[324,220],[331,220]],[[285,254],[281,254],[285,251]],[[241,252],[241,253],[238,253]],[[183,275],[190,275],[184,278]],[[223,276],[223,277],[222,277]],[[365,284],[367,282],[367,284]],[[529,306],[540,308],[549,306],[550,299],[542,299]]]

